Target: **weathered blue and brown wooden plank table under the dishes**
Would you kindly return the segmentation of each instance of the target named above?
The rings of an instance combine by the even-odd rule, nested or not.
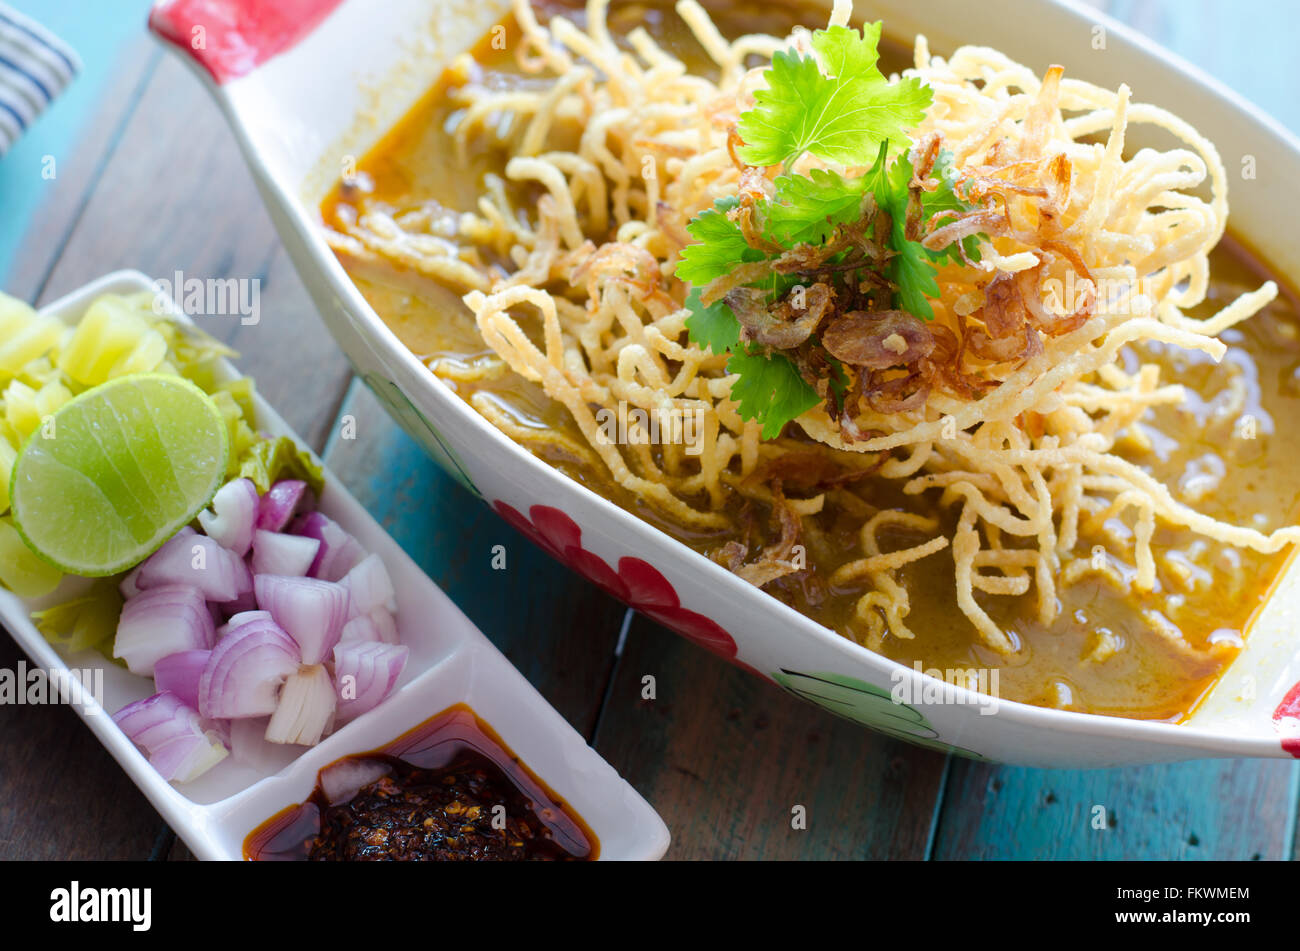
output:
[[[86,70],[0,160],[0,286],[39,304],[126,266],[260,279],[260,325],[207,329],[244,351],[290,424],[659,809],[671,856],[1292,857],[1294,764],[1052,772],[948,759],[805,705],[551,563],[426,460],[316,333],[225,123],[146,36],[147,1],[8,3],[69,40]],[[1097,5],[1300,129],[1291,3]],[[335,438],[343,416],[356,439]],[[510,551],[504,579],[495,544]],[[17,660],[0,640],[0,666]],[[640,699],[647,673],[653,703]],[[790,829],[796,804],[806,830]],[[1089,822],[1096,805],[1105,830]],[[187,852],[70,711],[0,707],[0,857]]]

